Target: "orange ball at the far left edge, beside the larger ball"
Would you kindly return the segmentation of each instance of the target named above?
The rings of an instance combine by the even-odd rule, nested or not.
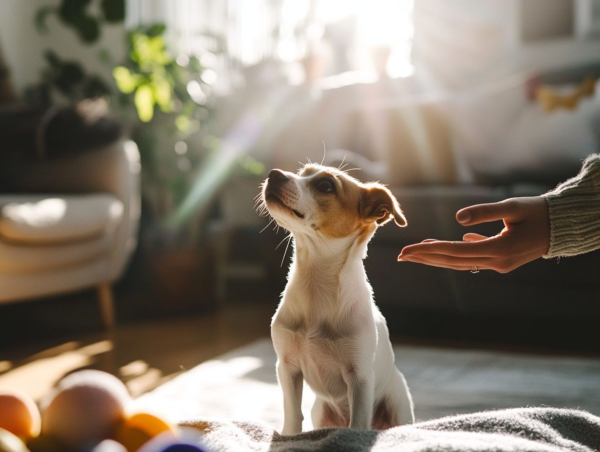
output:
[[[40,410],[28,394],[0,388],[0,429],[25,439],[38,436],[40,426]]]

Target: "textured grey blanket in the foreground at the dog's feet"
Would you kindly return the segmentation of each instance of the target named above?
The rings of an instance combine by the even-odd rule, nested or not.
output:
[[[441,418],[389,430],[322,429],[281,436],[263,424],[190,420],[217,452],[600,451],[600,418],[585,411],[514,408]]]

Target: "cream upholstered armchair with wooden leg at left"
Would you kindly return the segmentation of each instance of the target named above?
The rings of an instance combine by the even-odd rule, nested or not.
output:
[[[1,169],[0,303],[96,287],[112,327],[111,286],[137,244],[139,172],[128,140]]]

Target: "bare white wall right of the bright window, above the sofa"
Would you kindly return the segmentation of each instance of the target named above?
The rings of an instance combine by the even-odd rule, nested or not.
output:
[[[415,67],[433,72],[448,87],[469,89],[512,74],[600,61],[598,39],[573,36],[524,43],[523,1],[416,1]],[[547,5],[552,7],[550,1]],[[556,11],[541,12],[539,20],[548,22]]]

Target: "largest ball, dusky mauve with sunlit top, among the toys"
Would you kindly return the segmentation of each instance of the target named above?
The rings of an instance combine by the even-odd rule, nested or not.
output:
[[[43,410],[41,432],[65,448],[86,450],[111,438],[125,417],[131,397],[115,376],[100,370],[81,370],[56,385]]]

